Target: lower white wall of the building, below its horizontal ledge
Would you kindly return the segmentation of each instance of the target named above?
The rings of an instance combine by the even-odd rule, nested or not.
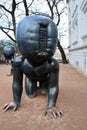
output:
[[[87,76],[87,49],[71,51],[69,54],[70,63],[81,73]]]

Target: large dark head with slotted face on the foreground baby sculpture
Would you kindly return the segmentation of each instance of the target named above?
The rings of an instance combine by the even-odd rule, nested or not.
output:
[[[34,63],[50,59],[57,46],[57,27],[48,17],[24,17],[17,26],[16,39],[23,57]]]

